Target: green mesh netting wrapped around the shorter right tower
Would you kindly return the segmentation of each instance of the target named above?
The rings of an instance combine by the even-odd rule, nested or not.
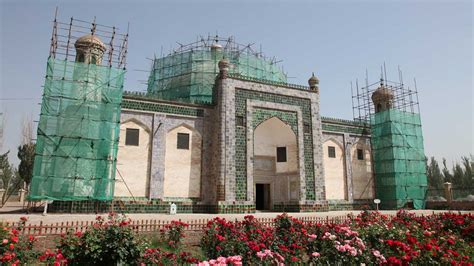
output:
[[[420,115],[386,110],[371,116],[376,194],[382,208],[425,206],[427,178]]]

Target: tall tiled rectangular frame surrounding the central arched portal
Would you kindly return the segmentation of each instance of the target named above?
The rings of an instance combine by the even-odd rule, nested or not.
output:
[[[282,111],[277,105],[291,105],[301,111],[301,129],[308,129],[303,133],[304,181],[301,186],[305,193],[303,201],[323,202],[324,178],[321,148],[321,119],[319,114],[319,95],[314,91],[285,88],[260,82],[251,82],[240,79],[224,79],[220,81],[218,90],[219,124],[220,130],[220,159],[221,169],[217,172],[218,183],[225,187],[224,200],[253,202],[253,189],[250,189],[247,179],[247,162],[251,159],[248,154],[247,142],[250,137],[245,127],[236,127],[236,116],[249,117],[248,100],[268,103],[266,109]],[[273,108],[271,105],[275,105]],[[288,111],[288,110],[283,110]],[[278,114],[277,114],[278,115]],[[279,114],[282,115],[281,113]],[[285,118],[283,117],[282,120]],[[247,133],[247,134],[246,134]],[[303,202],[302,202],[303,203]]]

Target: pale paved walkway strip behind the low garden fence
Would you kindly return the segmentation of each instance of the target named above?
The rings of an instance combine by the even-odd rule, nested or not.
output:
[[[4,211],[0,209],[0,211]],[[432,214],[446,212],[446,211],[433,211],[433,210],[417,210],[411,211],[417,214]],[[336,216],[346,216],[349,213],[357,215],[360,211],[331,211],[331,212],[294,212],[288,213],[290,216],[293,217],[336,217]],[[384,214],[395,214],[396,211],[382,211]],[[474,213],[473,211],[463,211],[463,213]],[[279,212],[257,212],[254,215],[257,218],[275,218],[277,215],[281,213]],[[107,215],[101,214],[101,215]],[[161,221],[171,221],[171,220],[179,220],[186,222],[186,221],[194,221],[199,219],[212,219],[214,217],[223,217],[228,220],[241,220],[244,218],[245,215],[248,214],[176,214],[176,215],[169,215],[169,214],[159,214],[159,213],[129,213],[126,214],[127,217],[130,217],[132,220],[161,220]],[[60,222],[81,222],[81,221],[93,221],[95,220],[96,214],[54,214],[50,213],[46,216],[43,216],[41,213],[33,213],[33,214],[21,214],[21,213],[2,213],[0,212],[0,221],[4,222],[16,222],[19,221],[20,217],[28,217],[28,223],[30,224],[39,224],[43,221],[43,224],[51,224],[51,223],[60,223]]]

